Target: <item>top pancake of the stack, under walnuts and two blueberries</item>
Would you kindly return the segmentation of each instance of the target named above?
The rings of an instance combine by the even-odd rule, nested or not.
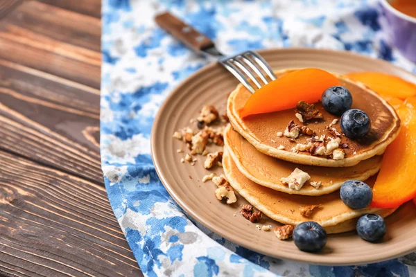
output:
[[[291,70],[278,71],[276,75],[279,77]],[[359,141],[352,140],[340,135],[340,143],[345,143],[347,148],[344,159],[331,159],[327,156],[314,156],[309,152],[292,152],[291,149],[297,144],[307,144],[306,139],[311,136],[299,136],[291,141],[286,136],[277,136],[277,132],[284,132],[291,120],[297,125],[303,126],[299,119],[295,116],[295,108],[286,109],[284,111],[275,111],[266,114],[256,114],[241,118],[239,110],[245,105],[250,98],[250,91],[245,89],[242,84],[229,95],[227,102],[227,116],[232,127],[247,139],[257,150],[278,159],[291,161],[293,163],[302,163],[309,166],[327,166],[327,167],[343,167],[355,166],[360,161],[370,159],[376,154],[382,154],[387,147],[399,134],[400,119],[396,111],[374,91],[365,87],[365,85],[349,80],[343,75],[336,75],[344,87],[347,87],[352,93],[352,108],[362,109],[365,111],[370,120],[372,127],[370,133],[365,139]],[[295,84],[294,84],[295,85]],[[318,136],[324,134],[329,135],[327,126],[334,119],[340,117],[329,114],[323,107],[321,102],[315,103],[322,115],[322,120],[311,120],[306,125],[313,129]],[[339,123],[333,125],[337,132],[342,133]],[[284,150],[277,149],[279,145],[284,146]]]

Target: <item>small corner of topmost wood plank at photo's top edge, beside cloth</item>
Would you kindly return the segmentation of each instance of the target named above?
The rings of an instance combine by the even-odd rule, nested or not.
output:
[[[37,0],[91,17],[101,17],[101,0]]]

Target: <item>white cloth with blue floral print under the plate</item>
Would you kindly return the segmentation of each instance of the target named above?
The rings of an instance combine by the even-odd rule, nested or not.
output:
[[[150,157],[150,129],[168,93],[208,61],[153,17],[170,10],[224,53],[306,46],[356,51],[416,72],[383,39],[375,0],[103,1],[101,156],[108,197],[145,276],[416,276],[416,253],[358,267],[270,258],[184,215]]]

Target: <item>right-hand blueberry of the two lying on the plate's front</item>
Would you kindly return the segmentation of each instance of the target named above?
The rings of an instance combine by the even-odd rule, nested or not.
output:
[[[357,233],[363,240],[376,242],[381,240],[387,231],[383,217],[367,213],[357,222]]]

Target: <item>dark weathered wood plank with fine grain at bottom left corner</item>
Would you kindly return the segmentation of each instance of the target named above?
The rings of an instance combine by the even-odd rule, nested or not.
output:
[[[0,272],[139,276],[105,189],[0,151]]]

